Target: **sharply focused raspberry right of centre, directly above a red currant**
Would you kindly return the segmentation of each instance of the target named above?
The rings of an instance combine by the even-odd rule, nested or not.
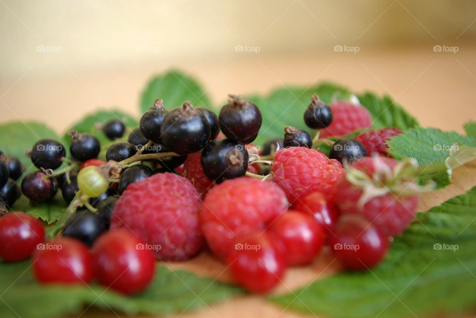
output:
[[[305,147],[279,150],[274,157],[273,172],[273,181],[284,190],[290,203],[314,191],[333,201],[337,184],[345,174],[339,161]]]

